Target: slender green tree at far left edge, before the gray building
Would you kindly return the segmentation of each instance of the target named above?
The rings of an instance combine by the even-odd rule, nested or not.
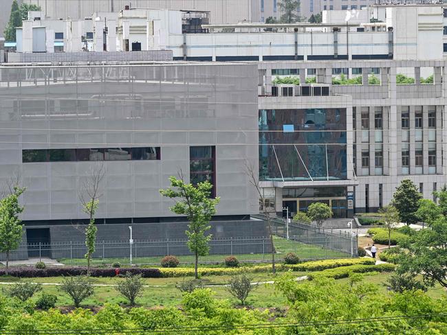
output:
[[[23,235],[23,224],[19,214],[24,207],[19,205],[19,196],[25,188],[14,186],[9,196],[0,200],[0,251],[6,253],[6,268],[8,269],[11,251],[17,249]]]

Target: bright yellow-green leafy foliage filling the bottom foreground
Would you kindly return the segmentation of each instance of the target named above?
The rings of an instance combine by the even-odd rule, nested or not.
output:
[[[297,282],[292,273],[279,277],[275,288],[289,305],[285,315],[269,310],[233,308],[226,300],[215,299],[210,288],[184,292],[181,308],[131,308],[105,305],[96,314],[77,309],[34,311],[28,303],[0,297],[0,330],[85,330],[104,334],[105,330],[144,329],[164,332],[175,329],[179,335],[191,334],[445,334],[447,319],[439,316],[447,310],[447,299],[430,299],[421,290],[403,293],[380,291],[376,284],[352,274],[348,281],[316,279]],[[424,318],[400,317],[371,321],[371,317],[429,315]],[[349,323],[351,319],[363,322]],[[327,322],[329,321],[329,322]],[[337,323],[336,321],[343,321]],[[283,327],[281,324],[300,323]],[[312,323],[312,324],[311,324]],[[264,325],[276,327],[266,327]],[[96,331],[95,331],[96,330]],[[124,333],[124,332],[123,332]]]

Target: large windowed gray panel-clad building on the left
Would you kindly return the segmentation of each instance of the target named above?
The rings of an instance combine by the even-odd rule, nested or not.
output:
[[[154,239],[184,232],[164,224],[178,218],[159,192],[181,173],[215,185],[215,237],[265,235],[246,220],[259,211],[244,170],[257,169],[257,80],[256,64],[2,66],[0,185],[21,176],[26,226],[66,240],[87,218],[84,181],[103,167],[96,218],[114,225],[98,238],[124,238],[133,222]]]

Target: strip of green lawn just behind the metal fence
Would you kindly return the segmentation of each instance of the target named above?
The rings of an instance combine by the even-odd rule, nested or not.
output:
[[[324,249],[320,246],[314,246],[311,244],[304,244],[301,242],[295,242],[292,240],[286,240],[285,238],[274,237],[274,244],[276,248],[276,258],[282,259],[283,255],[286,253],[296,253],[298,257],[301,259],[327,259],[327,258],[342,258],[349,257],[347,253],[342,253],[340,251],[334,251],[331,249]],[[272,255],[270,253],[259,253],[259,254],[243,254],[243,255],[235,255],[239,261],[249,262],[268,262]],[[160,264],[164,256],[160,257],[133,257],[133,264]],[[221,263],[223,262],[224,255],[207,255],[204,257],[200,257],[200,262],[215,262]],[[186,255],[179,256],[179,261],[184,264],[193,264],[194,256]],[[87,265],[87,261],[84,258],[74,258],[74,259],[58,259],[58,262],[61,262],[65,265]],[[93,265],[105,265],[105,264],[113,264],[114,262],[119,262],[120,264],[129,264],[129,257],[125,258],[105,258],[105,259],[92,259],[91,264]]]

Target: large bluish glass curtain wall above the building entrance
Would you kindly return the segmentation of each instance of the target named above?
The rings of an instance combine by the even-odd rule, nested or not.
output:
[[[259,111],[261,181],[347,179],[345,108]]]

